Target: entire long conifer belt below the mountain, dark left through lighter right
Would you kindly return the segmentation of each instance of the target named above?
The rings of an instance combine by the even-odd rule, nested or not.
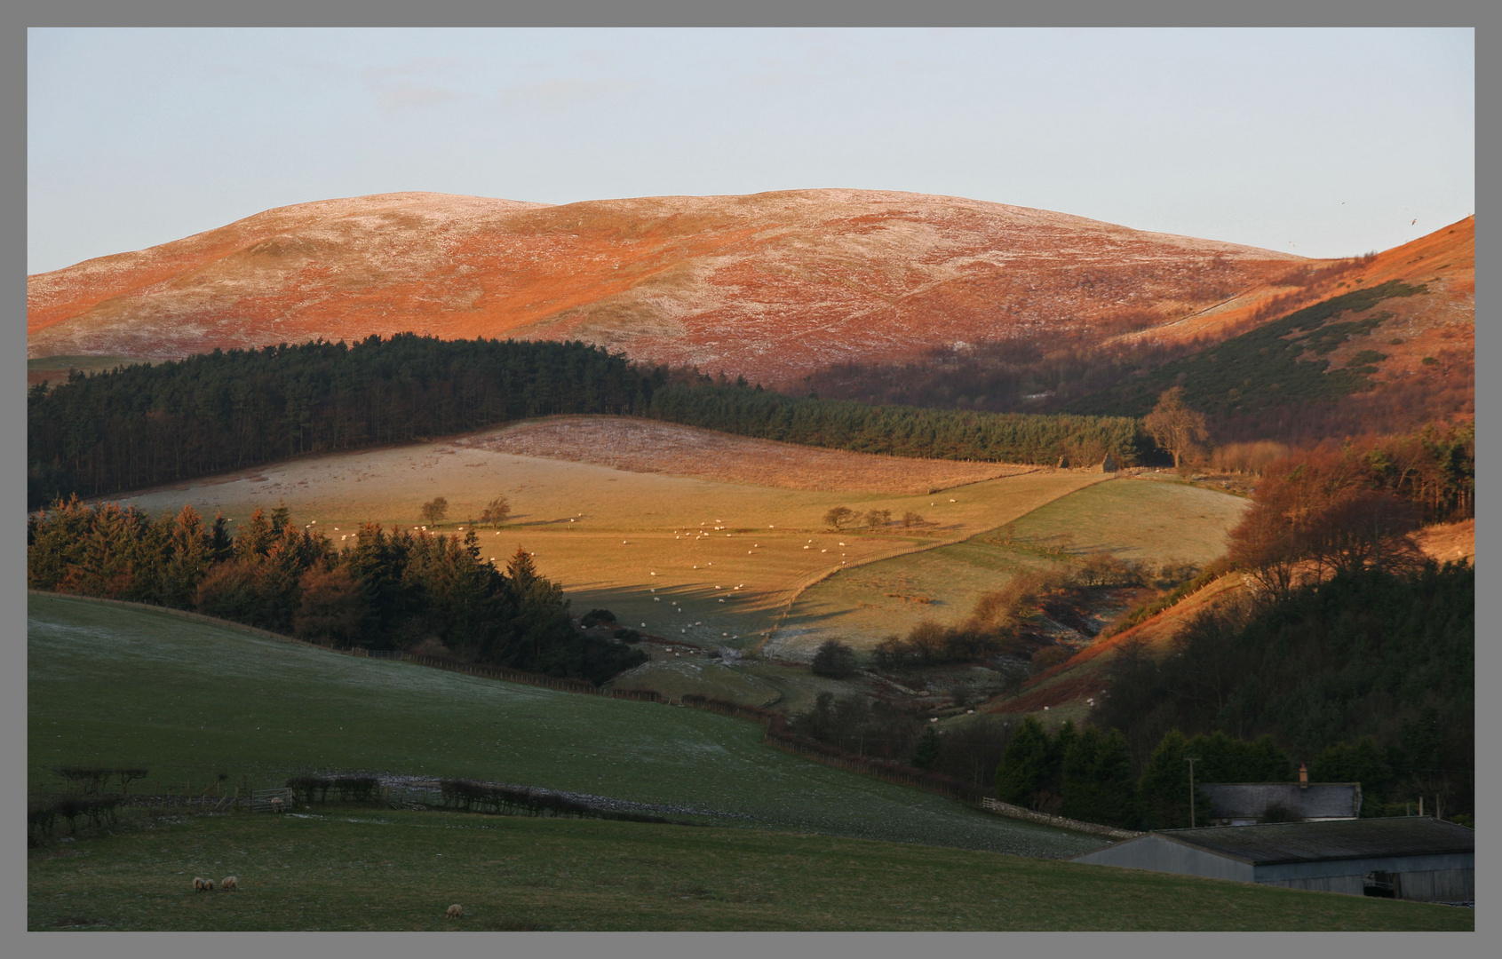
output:
[[[72,372],[27,396],[29,509],[302,453],[410,443],[560,413],[650,416],[810,446],[1006,462],[1133,462],[1126,417],[873,407],[715,383],[583,342],[401,333]]]

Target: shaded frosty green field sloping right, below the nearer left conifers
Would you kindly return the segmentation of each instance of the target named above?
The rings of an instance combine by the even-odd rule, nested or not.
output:
[[[27,771],[134,765],[132,792],[314,770],[460,776],[697,810],[697,821],[1027,855],[1090,836],[981,813],[760,743],[753,723],[29,597]]]

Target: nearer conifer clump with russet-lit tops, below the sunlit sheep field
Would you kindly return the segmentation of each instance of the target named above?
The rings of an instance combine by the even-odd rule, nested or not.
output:
[[[263,510],[231,534],[191,506],[153,519],[135,507],[59,500],[27,522],[27,585],[192,609],[338,648],[424,648],[596,684],[646,660],[580,633],[556,582],[517,549],[505,572],[464,537],[365,524],[339,549]]]

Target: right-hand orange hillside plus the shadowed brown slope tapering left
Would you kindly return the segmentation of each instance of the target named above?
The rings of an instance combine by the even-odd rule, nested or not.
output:
[[[834,363],[826,398],[960,410],[1146,413],[1182,384],[1218,441],[1401,432],[1475,410],[1475,218],[1382,254],[1293,264],[1206,309],[1157,321],[939,344],[894,363]]]

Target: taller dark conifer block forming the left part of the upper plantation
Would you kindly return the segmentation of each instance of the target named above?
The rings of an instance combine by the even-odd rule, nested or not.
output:
[[[72,372],[29,393],[30,507],[532,416],[644,413],[655,377],[581,342],[412,333]]]

